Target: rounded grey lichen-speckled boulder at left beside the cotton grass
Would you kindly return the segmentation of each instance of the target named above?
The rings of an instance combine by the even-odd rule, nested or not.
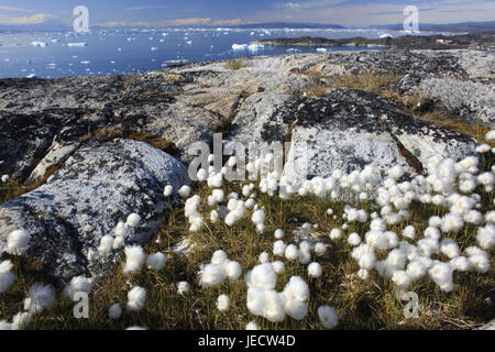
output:
[[[32,238],[19,253],[41,261],[47,273],[67,279],[101,273],[119,255],[89,257],[118,221],[136,212],[142,223],[127,243],[145,243],[168,209],[166,185],[188,184],[187,168],[151,145],[117,139],[91,142],[73,154],[40,188],[0,207],[0,253],[7,235],[24,229]]]

